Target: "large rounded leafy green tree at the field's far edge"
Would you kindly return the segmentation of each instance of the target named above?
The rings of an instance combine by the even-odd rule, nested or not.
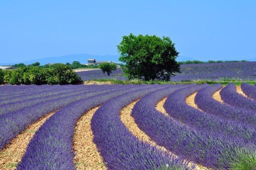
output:
[[[180,64],[176,62],[179,52],[174,45],[165,36],[123,36],[117,49],[124,73],[128,79],[170,80],[175,72],[180,73]]]

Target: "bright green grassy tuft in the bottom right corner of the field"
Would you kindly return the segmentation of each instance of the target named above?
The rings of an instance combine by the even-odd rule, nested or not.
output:
[[[232,170],[252,170],[256,169],[256,155],[240,151],[237,159],[231,165]]]

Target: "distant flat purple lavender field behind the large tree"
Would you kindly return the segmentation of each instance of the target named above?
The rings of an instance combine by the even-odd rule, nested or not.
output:
[[[107,76],[107,73],[103,74],[101,70],[83,71],[78,72],[78,74],[83,80],[127,80],[120,68],[113,71],[110,76]],[[181,73],[177,73],[175,77],[171,78],[171,81],[218,80],[223,77],[256,80],[256,62],[183,64],[181,65]]]

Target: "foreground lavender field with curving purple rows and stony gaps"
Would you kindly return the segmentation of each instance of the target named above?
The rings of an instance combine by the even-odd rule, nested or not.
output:
[[[0,169],[255,169],[256,86],[2,85]]]

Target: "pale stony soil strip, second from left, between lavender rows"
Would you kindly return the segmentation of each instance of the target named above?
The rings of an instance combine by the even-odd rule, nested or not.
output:
[[[91,130],[91,119],[99,107],[86,112],[76,123],[73,137],[73,148],[75,150],[74,163],[77,169],[106,169],[102,158],[93,143]]]

